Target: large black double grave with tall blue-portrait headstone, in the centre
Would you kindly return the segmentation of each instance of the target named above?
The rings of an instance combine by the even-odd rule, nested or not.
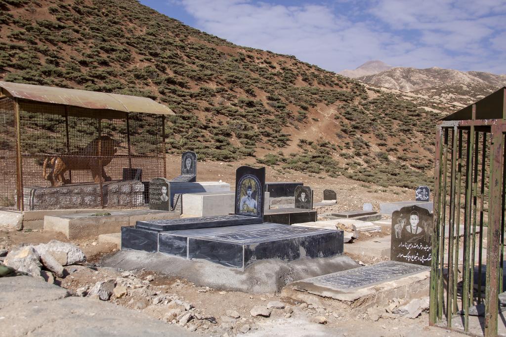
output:
[[[342,231],[265,222],[264,186],[265,168],[241,166],[236,170],[235,214],[138,221],[135,227],[121,228],[121,248],[203,259],[242,270],[258,260],[293,261],[343,253]],[[299,197],[311,207],[312,190],[303,188]]]

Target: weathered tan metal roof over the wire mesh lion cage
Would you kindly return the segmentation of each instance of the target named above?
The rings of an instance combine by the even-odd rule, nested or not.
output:
[[[13,97],[35,102],[64,104],[87,109],[174,115],[174,112],[163,104],[145,97],[4,81],[0,81],[0,87]]]

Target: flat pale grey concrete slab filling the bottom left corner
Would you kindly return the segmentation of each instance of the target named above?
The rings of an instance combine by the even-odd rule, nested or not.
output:
[[[73,297],[31,276],[0,278],[0,336],[194,336],[144,313]]]

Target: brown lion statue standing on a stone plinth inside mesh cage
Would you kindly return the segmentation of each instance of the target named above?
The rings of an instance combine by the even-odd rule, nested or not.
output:
[[[99,140],[101,141],[101,162],[98,158]],[[68,179],[65,179],[64,177],[65,172],[69,170],[90,170],[93,180],[96,183],[100,182],[101,176],[105,181],[110,181],[111,177],[105,174],[104,166],[107,166],[111,162],[112,156],[116,153],[116,148],[119,144],[119,141],[114,140],[107,135],[103,135],[93,139],[82,149],[72,151],[61,156],[46,158],[43,164],[42,176],[44,179],[51,182],[51,186],[56,186],[57,183],[69,183]]]

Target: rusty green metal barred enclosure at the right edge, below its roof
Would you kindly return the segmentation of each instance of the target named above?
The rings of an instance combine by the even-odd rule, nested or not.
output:
[[[506,106],[506,101],[504,105]],[[462,332],[473,334],[469,327],[469,307],[484,303],[483,332],[489,337],[497,335],[498,295],[502,293],[503,288],[506,119],[476,119],[476,105],[471,108],[472,119],[443,121],[436,132],[435,224],[429,322],[431,325],[454,330],[452,316],[460,309],[463,313]],[[462,157],[463,154],[466,156],[465,159]],[[448,155],[451,155],[451,159]],[[459,233],[458,227],[454,231],[454,226],[458,226],[461,220],[464,226],[463,233]],[[483,245],[485,225],[487,225],[486,247]],[[445,226],[449,226],[448,247],[445,247]],[[459,234],[463,234],[460,289],[457,288]],[[481,281],[484,248],[487,253],[485,298],[482,295]],[[478,281],[475,291],[476,263]],[[444,272],[446,270],[447,273]],[[458,298],[461,300],[458,301]]]

